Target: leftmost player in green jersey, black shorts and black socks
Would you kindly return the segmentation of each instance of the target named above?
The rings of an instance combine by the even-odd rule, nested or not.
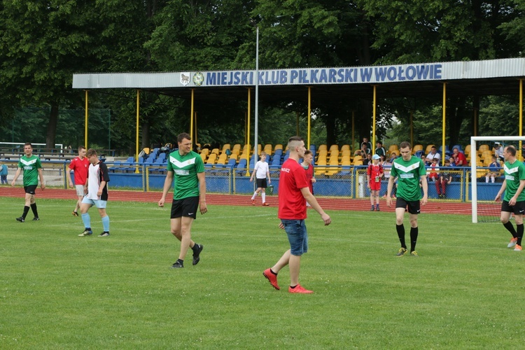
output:
[[[18,169],[11,186],[15,186],[16,179],[20,176],[22,169],[24,169],[25,206],[22,216],[16,218],[16,220],[23,223],[29,212],[29,207],[31,207],[31,211],[33,211],[34,214],[33,221],[38,221],[40,219],[38,218],[38,211],[36,210],[36,203],[34,201],[34,191],[38,186],[38,178],[40,178],[40,188],[42,190],[45,189],[45,184],[43,183],[42,163],[40,162],[40,158],[33,155],[33,146],[31,146],[29,142],[24,144],[24,155],[18,160]]]

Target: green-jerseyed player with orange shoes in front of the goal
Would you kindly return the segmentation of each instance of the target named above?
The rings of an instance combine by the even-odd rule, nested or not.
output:
[[[521,251],[521,239],[523,238],[523,214],[525,212],[525,165],[516,159],[516,148],[514,146],[505,147],[503,151],[505,158],[505,165],[503,170],[505,172],[505,181],[501,185],[496,201],[501,199],[501,195],[505,192],[503,202],[501,203],[500,221],[503,226],[510,232],[512,239],[510,239],[507,247],[514,247],[514,251]],[[509,221],[510,214],[514,213],[514,220],[516,221],[516,229]]]

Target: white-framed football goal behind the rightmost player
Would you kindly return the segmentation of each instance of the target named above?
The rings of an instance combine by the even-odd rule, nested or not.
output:
[[[505,181],[503,162],[497,160],[501,166],[498,170],[489,168],[496,142],[501,144],[501,148],[509,145],[516,147],[516,157],[521,162],[523,161],[521,146],[525,144],[523,141],[525,137],[470,137],[472,223],[499,221],[500,218],[501,202],[494,201],[494,198]]]

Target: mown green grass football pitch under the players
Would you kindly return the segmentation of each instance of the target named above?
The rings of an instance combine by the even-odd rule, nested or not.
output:
[[[287,267],[280,291],[262,276],[288,248],[274,207],[209,207],[193,225],[201,262],[171,269],[168,208],[110,202],[99,238],[96,209],[77,237],[72,201],[38,199],[25,223],[22,198],[0,204],[1,349],[523,346],[525,252],[500,223],[421,214],[419,258],[395,258],[392,213],[329,211],[324,227],[309,211],[300,281],[315,293],[292,295]]]

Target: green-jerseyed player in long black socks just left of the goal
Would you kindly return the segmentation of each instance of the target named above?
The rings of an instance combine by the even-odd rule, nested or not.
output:
[[[408,207],[410,219],[410,255],[417,256],[416,243],[419,234],[417,227],[417,214],[420,212],[420,204],[425,205],[428,199],[428,184],[426,182],[426,169],[423,160],[412,157],[412,148],[407,141],[399,145],[401,157],[395,158],[388,179],[388,190],[386,193],[386,205],[392,205],[392,188],[395,178],[398,178],[397,200],[395,200],[395,230],[398,232],[401,248],[397,256],[407,253],[405,244],[405,209]],[[421,200],[421,188],[423,188],[423,199]],[[421,201],[421,202],[420,202]]]

